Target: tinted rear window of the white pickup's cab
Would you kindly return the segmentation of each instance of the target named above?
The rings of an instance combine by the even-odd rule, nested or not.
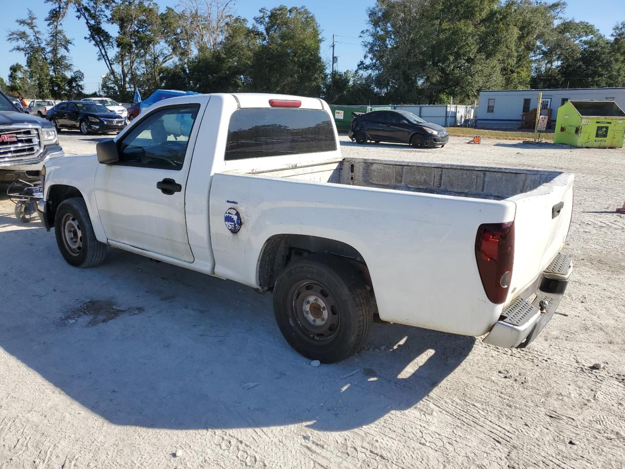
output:
[[[334,150],[331,118],[322,109],[247,108],[232,113],[224,159]]]

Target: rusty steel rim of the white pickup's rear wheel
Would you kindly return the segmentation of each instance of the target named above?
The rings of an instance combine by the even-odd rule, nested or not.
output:
[[[289,290],[289,318],[302,338],[312,343],[332,341],[341,324],[339,306],[328,288],[303,280]]]

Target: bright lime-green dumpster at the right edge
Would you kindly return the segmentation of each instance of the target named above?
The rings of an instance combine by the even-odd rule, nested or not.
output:
[[[557,109],[554,143],[622,148],[625,112],[614,101],[567,101]]]

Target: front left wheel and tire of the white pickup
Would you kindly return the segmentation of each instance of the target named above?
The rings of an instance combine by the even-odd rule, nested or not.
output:
[[[96,240],[87,206],[81,198],[61,202],[54,215],[54,235],[69,265],[89,268],[104,260],[107,246]]]

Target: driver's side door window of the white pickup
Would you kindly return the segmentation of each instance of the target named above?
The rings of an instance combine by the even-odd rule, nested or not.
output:
[[[179,171],[198,110],[199,105],[191,104],[149,115],[124,136],[116,164]]]

